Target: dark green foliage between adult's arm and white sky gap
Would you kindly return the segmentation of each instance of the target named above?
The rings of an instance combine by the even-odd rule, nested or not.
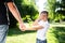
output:
[[[22,1],[22,0],[20,0]],[[35,9],[35,3],[31,2],[30,0],[23,0],[22,2],[20,2],[15,0],[15,3],[21,12],[22,17],[26,17],[26,15],[29,15],[30,18],[32,19],[32,16],[37,15],[37,10]]]

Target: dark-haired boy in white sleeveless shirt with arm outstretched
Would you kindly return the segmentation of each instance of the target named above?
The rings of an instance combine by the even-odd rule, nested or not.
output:
[[[46,33],[49,29],[48,23],[48,12],[42,11],[38,19],[35,20],[32,27],[26,30],[37,30],[37,42],[36,43],[47,43]]]

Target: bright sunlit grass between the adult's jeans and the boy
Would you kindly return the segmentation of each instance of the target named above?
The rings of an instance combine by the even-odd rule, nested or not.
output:
[[[6,43],[35,43],[36,32],[8,37]]]

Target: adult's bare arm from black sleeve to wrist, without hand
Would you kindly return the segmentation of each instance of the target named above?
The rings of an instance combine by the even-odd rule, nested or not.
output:
[[[17,10],[17,8],[15,6],[15,4],[13,2],[8,3],[8,8],[11,11],[11,13],[13,14],[13,16],[16,18],[16,20],[21,24],[23,23],[20,12]]]

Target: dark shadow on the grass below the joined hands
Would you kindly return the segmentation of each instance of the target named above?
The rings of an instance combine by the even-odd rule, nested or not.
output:
[[[10,28],[8,35],[12,37],[12,35],[18,35],[18,34],[34,33],[34,32],[36,31],[29,31],[29,30],[21,31],[18,28]]]

